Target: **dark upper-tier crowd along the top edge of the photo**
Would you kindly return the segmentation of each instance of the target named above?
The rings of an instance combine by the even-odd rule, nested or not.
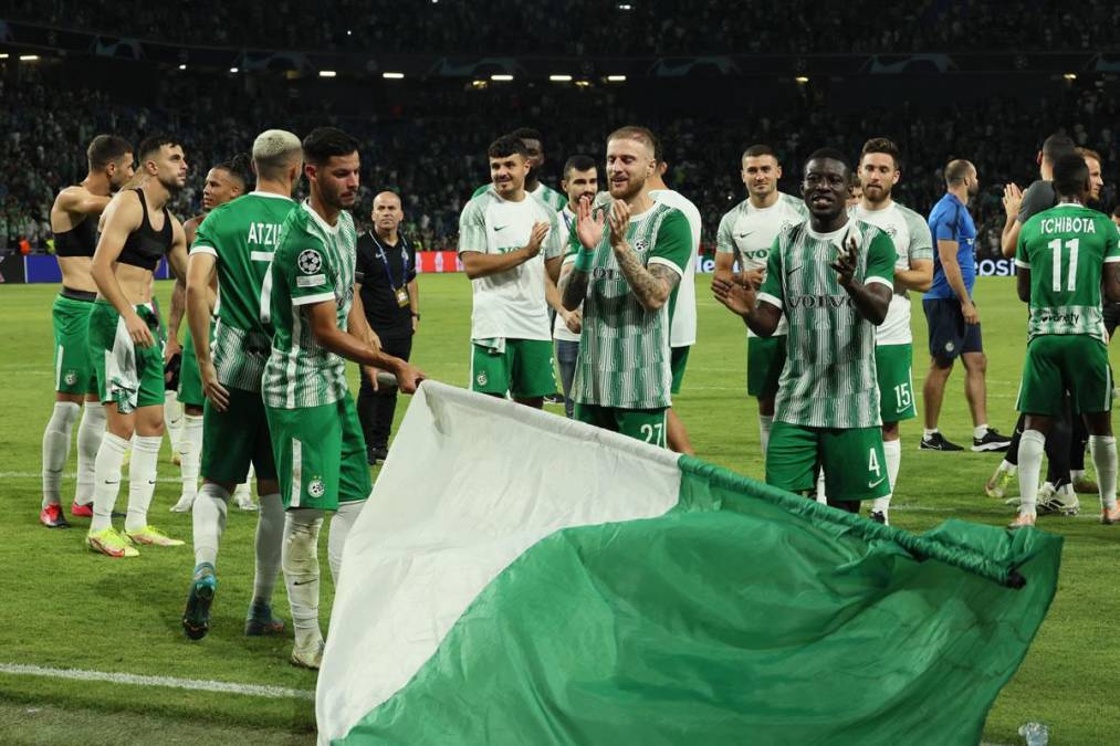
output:
[[[293,0],[151,3],[10,0],[6,17],[184,45],[404,53],[662,56],[1020,50],[1113,47],[1108,0]],[[1024,49],[1025,50],[1025,49]]]

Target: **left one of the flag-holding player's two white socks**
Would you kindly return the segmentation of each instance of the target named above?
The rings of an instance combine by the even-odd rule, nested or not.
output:
[[[323,511],[297,507],[284,516],[281,563],[296,647],[307,649],[323,640],[319,630],[319,529]]]

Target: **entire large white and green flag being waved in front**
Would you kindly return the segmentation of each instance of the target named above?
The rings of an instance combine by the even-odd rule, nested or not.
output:
[[[1060,553],[426,382],[346,544],[320,743],[974,745]]]

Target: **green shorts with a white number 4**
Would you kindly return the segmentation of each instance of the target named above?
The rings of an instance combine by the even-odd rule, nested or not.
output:
[[[809,428],[775,421],[766,449],[766,484],[803,493],[824,469],[829,500],[874,500],[890,493],[883,430]]]

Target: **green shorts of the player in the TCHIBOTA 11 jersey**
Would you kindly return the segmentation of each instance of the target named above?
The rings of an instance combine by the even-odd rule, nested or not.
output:
[[[1112,411],[1109,349],[1084,335],[1047,334],[1027,344],[1015,408],[1024,414],[1062,414],[1062,392],[1074,414]]]

